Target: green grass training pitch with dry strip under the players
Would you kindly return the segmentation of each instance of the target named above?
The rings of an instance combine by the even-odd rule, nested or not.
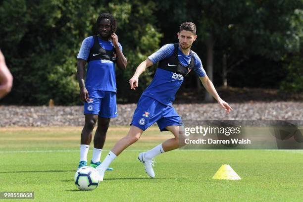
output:
[[[102,159],[127,131],[110,128]],[[97,189],[79,191],[73,176],[80,132],[80,127],[0,128],[0,191],[33,191],[34,201],[56,202],[303,201],[302,151],[177,150],[156,157],[156,178],[150,179],[137,155],[171,137],[157,128],[113,161],[114,171],[105,173]],[[222,164],[230,164],[242,180],[212,180]]]

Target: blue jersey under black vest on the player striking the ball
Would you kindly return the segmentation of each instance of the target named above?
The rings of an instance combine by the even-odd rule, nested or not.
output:
[[[154,64],[160,60],[170,57],[173,52],[174,44],[167,44],[150,55],[149,59]],[[194,58],[193,70],[199,77],[205,76],[206,73],[203,69],[201,59],[194,51],[191,51],[191,54],[193,54]],[[189,65],[192,58],[191,54],[185,55],[180,48],[178,48],[179,62],[185,66]],[[162,68],[157,68],[151,84],[147,87],[142,95],[151,97],[162,104],[172,105],[172,102],[175,100],[175,95],[183,81],[183,75],[167,71]]]

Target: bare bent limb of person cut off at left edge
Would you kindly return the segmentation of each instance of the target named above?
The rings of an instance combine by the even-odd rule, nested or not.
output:
[[[4,56],[0,50],[0,99],[10,92],[12,82],[13,77],[5,64]]]

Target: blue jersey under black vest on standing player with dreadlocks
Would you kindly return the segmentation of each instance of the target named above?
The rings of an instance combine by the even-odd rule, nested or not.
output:
[[[99,37],[98,39],[99,44],[103,49],[114,49],[114,46],[110,40],[104,41]],[[93,45],[94,38],[92,36],[85,38],[82,42],[77,59],[84,59],[87,61]],[[122,51],[120,43],[119,48]],[[115,62],[107,59],[89,61],[86,72],[85,87],[88,90],[117,92]]]

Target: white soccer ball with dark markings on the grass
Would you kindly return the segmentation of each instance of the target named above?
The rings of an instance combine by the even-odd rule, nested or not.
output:
[[[98,171],[90,166],[79,168],[74,179],[79,190],[94,190],[99,185]]]

